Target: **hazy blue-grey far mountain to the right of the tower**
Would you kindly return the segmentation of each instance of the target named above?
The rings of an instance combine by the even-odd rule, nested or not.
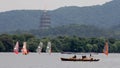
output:
[[[80,23],[95,25],[101,28],[109,28],[120,23],[120,0],[113,0],[104,5],[87,7],[62,7],[55,10],[54,20],[61,24]],[[55,14],[54,14],[55,13]],[[62,20],[63,22],[61,22]]]

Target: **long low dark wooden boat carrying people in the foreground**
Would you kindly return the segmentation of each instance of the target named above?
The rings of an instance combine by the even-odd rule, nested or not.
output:
[[[87,58],[82,56],[82,58],[60,58],[62,61],[99,61],[100,59]]]

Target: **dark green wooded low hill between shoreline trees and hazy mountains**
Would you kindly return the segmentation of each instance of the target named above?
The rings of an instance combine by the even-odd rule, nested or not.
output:
[[[57,37],[57,36],[79,36],[84,38],[105,37],[105,38],[120,39],[119,31],[114,31],[112,29],[103,30],[93,25],[80,25],[80,24],[70,24],[70,25],[63,25],[58,27],[51,27],[45,30],[40,30],[40,29],[33,29],[29,31],[16,30],[8,33],[10,34],[30,33],[39,38]]]

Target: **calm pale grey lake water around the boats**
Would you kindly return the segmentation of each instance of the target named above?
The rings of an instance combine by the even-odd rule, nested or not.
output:
[[[0,68],[120,68],[120,54],[94,55],[98,62],[61,61],[60,57],[72,57],[73,54],[30,53],[16,55],[14,53],[0,53]],[[89,56],[89,55],[88,55]],[[77,55],[81,57],[81,55]]]

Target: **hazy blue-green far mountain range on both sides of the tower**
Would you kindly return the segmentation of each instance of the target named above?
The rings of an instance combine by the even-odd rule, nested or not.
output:
[[[61,7],[48,11],[51,26],[68,24],[95,26],[101,29],[117,29],[120,26],[120,0],[113,0],[102,6]],[[0,32],[38,29],[41,10],[13,10],[0,13]]]

